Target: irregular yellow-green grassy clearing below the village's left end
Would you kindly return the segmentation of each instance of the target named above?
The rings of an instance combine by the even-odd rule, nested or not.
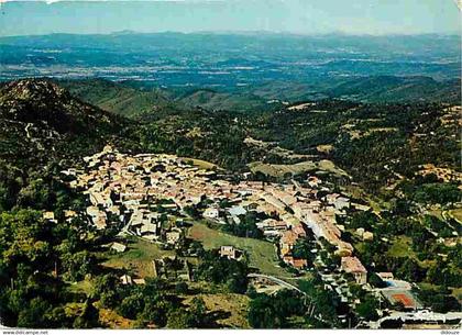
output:
[[[145,278],[154,276],[153,259],[175,255],[173,250],[163,250],[158,245],[140,238],[130,239],[128,247],[128,250],[124,253],[106,253],[105,256],[108,257],[108,260],[102,265],[116,269],[130,269],[136,276]]]

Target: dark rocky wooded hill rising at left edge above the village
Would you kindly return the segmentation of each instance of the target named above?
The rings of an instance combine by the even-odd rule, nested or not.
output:
[[[44,181],[41,176],[53,179],[59,166],[117,142],[125,124],[120,116],[74,98],[48,80],[3,86],[0,123],[0,209],[18,204],[33,185],[36,191],[46,192],[50,185],[43,183],[40,190]],[[53,199],[28,201],[38,208],[44,202],[46,208],[53,204]]]

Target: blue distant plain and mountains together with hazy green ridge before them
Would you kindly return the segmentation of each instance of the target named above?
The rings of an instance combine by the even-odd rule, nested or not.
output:
[[[331,98],[458,102],[459,46],[449,35],[14,36],[0,37],[0,80],[50,77],[128,116],[196,107],[257,112]]]

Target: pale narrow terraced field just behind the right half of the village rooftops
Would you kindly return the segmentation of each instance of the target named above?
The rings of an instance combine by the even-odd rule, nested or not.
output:
[[[282,164],[264,164],[254,161],[248,165],[252,172],[262,172],[272,177],[284,177],[286,174],[300,175],[307,171],[327,171],[337,176],[348,176],[345,171],[337,167],[331,160],[322,159],[319,161],[306,160],[301,163],[282,165]]]

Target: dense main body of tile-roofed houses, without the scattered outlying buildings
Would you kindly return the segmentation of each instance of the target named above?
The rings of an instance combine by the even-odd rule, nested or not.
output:
[[[206,203],[200,206],[204,217],[228,224],[239,224],[243,215],[255,212],[265,217],[256,226],[265,237],[278,242],[280,259],[287,265],[307,267],[307,260],[295,257],[293,248],[312,232],[316,238],[322,237],[337,248],[345,272],[353,273],[359,283],[366,280],[352,245],[342,241],[343,226],[336,221],[338,215],[345,215],[346,209],[361,205],[329,192],[315,176],[304,186],[297,181],[235,183],[173,155],[124,155],[110,146],[85,157],[85,161],[84,170],[68,169],[63,174],[74,177],[70,187],[88,194],[91,204],[87,215],[99,230],[116,222],[123,226],[124,234],[176,244],[183,232],[164,224],[158,206],[185,213],[189,206]],[[359,209],[366,210],[364,205]]]

